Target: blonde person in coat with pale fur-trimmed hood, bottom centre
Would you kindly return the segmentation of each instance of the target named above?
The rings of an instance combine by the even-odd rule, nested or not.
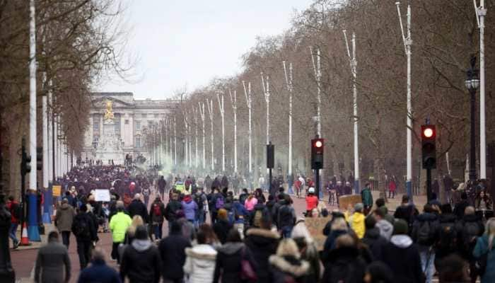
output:
[[[310,272],[307,261],[301,260],[296,242],[291,238],[280,241],[275,255],[269,257],[269,282],[303,283]]]

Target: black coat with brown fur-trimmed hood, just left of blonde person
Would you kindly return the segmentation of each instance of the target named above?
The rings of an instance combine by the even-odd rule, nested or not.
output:
[[[251,228],[246,231],[244,243],[250,248],[257,262],[257,282],[271,282],[268,271],[268,258],[276,252],[279,246],[279,233],[267,229]]]

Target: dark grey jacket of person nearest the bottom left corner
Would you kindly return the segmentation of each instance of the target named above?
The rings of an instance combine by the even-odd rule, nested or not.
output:
[[[50,241],[38,250],[35,265],[36,283],[64,283],[69,282],[70,278],[71,260],[67,248],[62,243]]]

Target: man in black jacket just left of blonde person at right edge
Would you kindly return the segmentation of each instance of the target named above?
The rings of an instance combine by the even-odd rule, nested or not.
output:
[[[484,233],[482,218],[474,213],[474,207],[466,207],[462,219],[455,226],[458,233],[458,251],[460,256],[470,264],[471,282],[476,282],[477,272],[474,268],[474,257],[472,251],[478,237]]]

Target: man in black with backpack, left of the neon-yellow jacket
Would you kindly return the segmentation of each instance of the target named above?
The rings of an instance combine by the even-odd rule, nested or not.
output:
[[[86,204],[81,205],[79,213],[74,217],[74,221],[72,221],[72,233],[76,236],[77,253],[79,255],[81,270],[88,266],[91,259],[93,241],[98,241],[95,224],[87,212],[88,206]]]

